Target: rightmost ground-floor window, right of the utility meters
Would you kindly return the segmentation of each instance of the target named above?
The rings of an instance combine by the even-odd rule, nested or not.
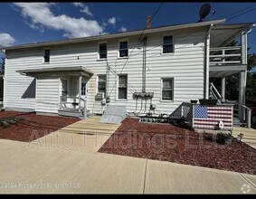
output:
[[[162,79],[162,100],[174,100],[174,78]]]

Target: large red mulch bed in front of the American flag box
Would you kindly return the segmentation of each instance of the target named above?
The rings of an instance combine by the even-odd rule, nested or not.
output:
[[[254,148],[235,138],[230,145],[220,145],[214,140],[213,134],[126,118],[98,152],[256,175]]]

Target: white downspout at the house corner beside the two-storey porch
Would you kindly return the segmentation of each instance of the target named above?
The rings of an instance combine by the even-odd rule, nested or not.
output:
[[[204,60],[204,99],[209,99],[209,68],[210,68],[210,33],[213,28],[213,24],[210,25],[205,37],[205,60]]]

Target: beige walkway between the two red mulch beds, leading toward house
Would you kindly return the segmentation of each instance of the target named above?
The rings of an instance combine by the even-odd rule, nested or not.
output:
[[[116,124],[99,122],[100,117],[82,119],[65,128],[31,142],[37,147],[79,148],[97,152],[109,137],[119,128]],[[37,135],[33,135],[36,137]]]

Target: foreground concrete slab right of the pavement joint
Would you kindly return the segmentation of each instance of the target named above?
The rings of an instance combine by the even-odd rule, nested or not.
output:
[[[147,160],[145,194],[242,194],[242,185],[238,173]]]

